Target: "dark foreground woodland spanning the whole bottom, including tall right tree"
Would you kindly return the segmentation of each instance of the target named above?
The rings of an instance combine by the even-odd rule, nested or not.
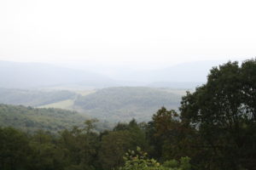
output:
[[[0,169],[253,170],[256,59],[213,67],[206,84],[183,96],[179,112],[162,107],[149,122],[102,132],[95,123],[57,134],[1,127]]]

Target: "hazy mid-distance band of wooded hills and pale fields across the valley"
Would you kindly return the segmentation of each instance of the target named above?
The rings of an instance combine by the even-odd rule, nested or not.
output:
[[[78,111],[109,122],[148,121],[161,106],[177,109],[183,89],[102,88],[96,90],[25,90],[0,88],[0,103]]]

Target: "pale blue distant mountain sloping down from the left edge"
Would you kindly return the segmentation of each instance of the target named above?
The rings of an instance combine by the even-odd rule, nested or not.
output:
[[[0,88],[42,88],[81,84],[103,88],[113,80],[91,71],[81,71],[40,63],[0,61]]]

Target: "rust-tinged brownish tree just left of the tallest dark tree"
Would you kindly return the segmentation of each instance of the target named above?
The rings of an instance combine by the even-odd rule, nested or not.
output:
[[[148,122],[147,137],[153,148],[149,155],[160,161],[179,159],[182,156],[193,156],[191,149],[192,135],[195,130],[182,124],[176,111],[167,111],[162,107]],[[193,136],[194,137],[194,136]]]

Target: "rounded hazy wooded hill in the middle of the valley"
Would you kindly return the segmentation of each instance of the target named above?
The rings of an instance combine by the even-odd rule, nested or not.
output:
[[[79,96],[74,107],[113,122],[130,121],[131,118],[148,121],[161,106],[177,109],[180,100],[181,95],[160,88],[103,88],[94,94]]]

